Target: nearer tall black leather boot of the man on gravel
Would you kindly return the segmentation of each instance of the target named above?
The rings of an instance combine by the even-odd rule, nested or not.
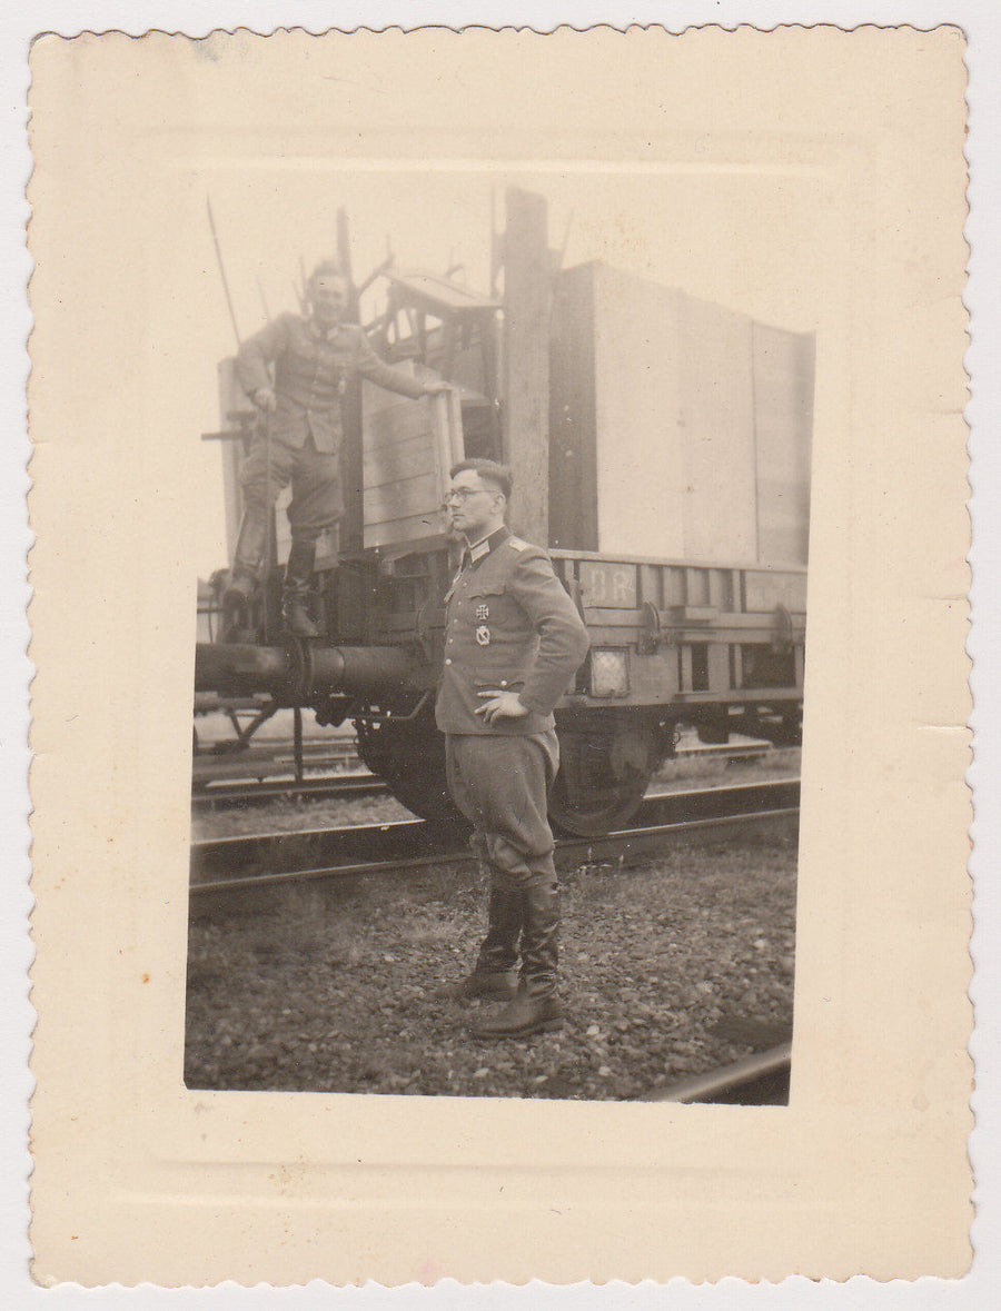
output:
[[[546,863],[551,867],[551,859]],[[522,884],[521,979],[514,999],[495,1015],[478,1019],[478,1038],[518,1038],[563,1028],[556,996],[559,964],[559,888],[551,868],[533,869]]]

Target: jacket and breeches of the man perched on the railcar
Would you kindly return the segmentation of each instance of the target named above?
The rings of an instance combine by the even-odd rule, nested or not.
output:
[[[272,384],[269,364],[274,364]],[[247,510],[264,515],[293,484],[293,538],[315,541],[344,513],[340,451],[341,397],[361,374],[379,387],[417,399],[417,379],[383,363],[357,324],[323,329],[299,315],[279,315],[240,347],[236,371],[244,391],[274,391],[277,406],[244,461]]]

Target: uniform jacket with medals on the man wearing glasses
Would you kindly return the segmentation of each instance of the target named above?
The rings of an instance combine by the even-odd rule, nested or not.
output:
[[[436,720],[443,733],[546,733],[588,654],[588,629],[548,556],[499,528],[467,549],[447,597]],[[529,714],[485,724],[484,691],[517,692]]]

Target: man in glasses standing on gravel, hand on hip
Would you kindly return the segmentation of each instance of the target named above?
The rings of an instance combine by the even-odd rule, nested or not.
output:
[[[446,995],[508,1000],[474,1025],[484,1038],[558,1029],[559,901],[547,793],[559,749],[552,708],[588,652],[588,631],[548,556],[504,524],[510,472],[492,460],[451,471],[447,506],[464,538],[447,597],[436,718],[449,788],[489,867],[479,960]],[[516,992],[512,970],[521,953]]]

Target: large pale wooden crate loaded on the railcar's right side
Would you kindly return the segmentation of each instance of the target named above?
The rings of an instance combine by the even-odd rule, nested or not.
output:
[[[589,264],[550,364],[550,545],[806,564],[811,334]]]

